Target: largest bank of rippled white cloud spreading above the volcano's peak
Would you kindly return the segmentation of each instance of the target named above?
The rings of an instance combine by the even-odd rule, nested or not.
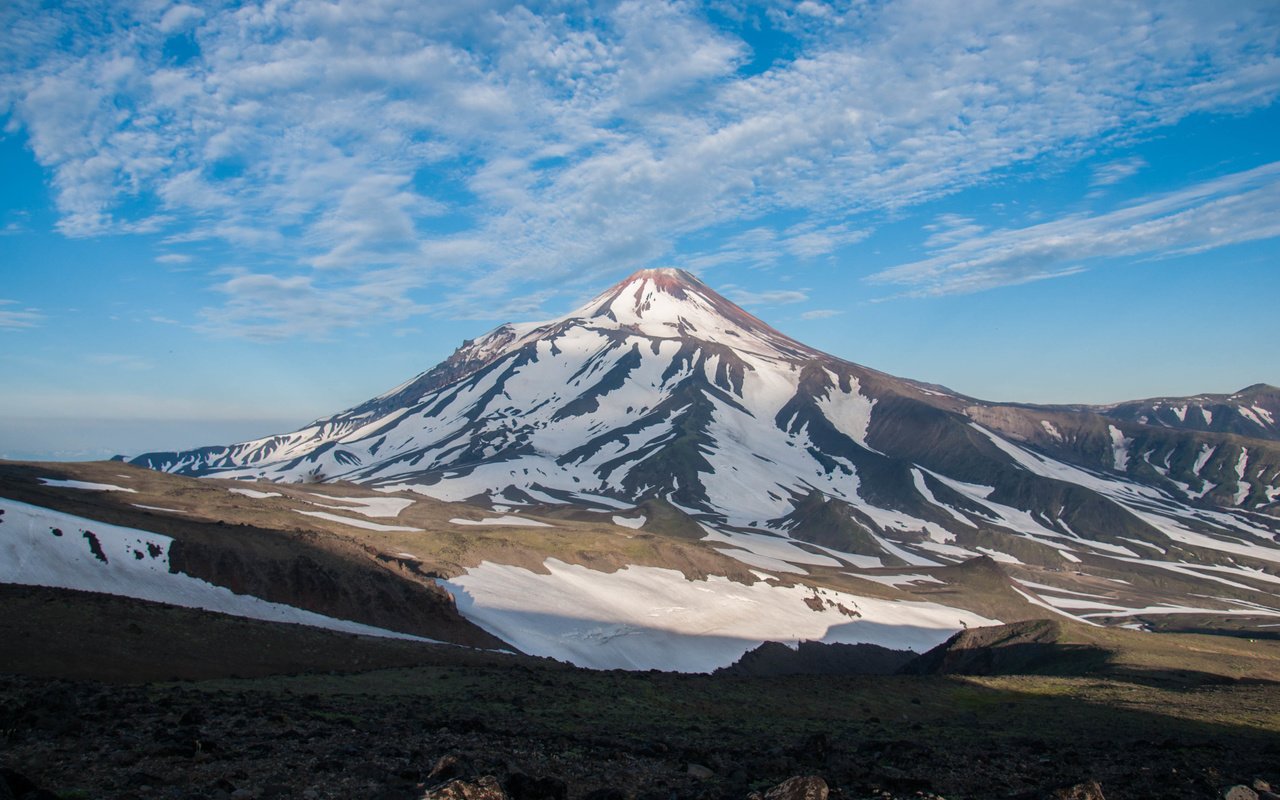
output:
[[[442,288],[531,274],[823,257],[868,212],[1280,87],[1267,4],[801,3],[771,10],[797,51],[759,73],[740,31],[677,1],[146,9],[8,4],[0,108],[65,234],[280,265],[214,285],[205,325],[255,338],[451,312]],[[767,221],[788,214],[805,227]]]

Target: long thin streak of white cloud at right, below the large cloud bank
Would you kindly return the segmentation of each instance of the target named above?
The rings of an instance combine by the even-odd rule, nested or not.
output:
[[[959,294],[1070,275],[1106,259],[1187,255],[1277,236],[1280,161],[1107,214],[974,232],[870,280],[908,294]]]

